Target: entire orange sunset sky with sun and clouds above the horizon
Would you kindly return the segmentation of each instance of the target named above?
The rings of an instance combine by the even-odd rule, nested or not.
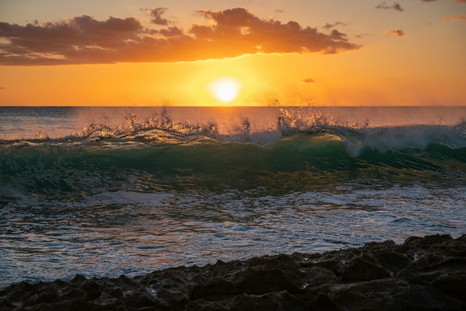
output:
[[[466,105],[465,14],[466,0],[2,0],[0,105]]]

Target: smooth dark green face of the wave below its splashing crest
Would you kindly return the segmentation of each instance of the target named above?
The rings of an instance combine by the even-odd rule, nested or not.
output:
[[[333,189],[337,183],[383,183],[466,176],[466,148],[430,143],[425,149],[354,156],[335,134],[282,138],[272,148],[201,139],[182,143],[37,143],[0,150],[0,183],[41,197],[79,197],[102,191],[255,190],[261,194]]]

